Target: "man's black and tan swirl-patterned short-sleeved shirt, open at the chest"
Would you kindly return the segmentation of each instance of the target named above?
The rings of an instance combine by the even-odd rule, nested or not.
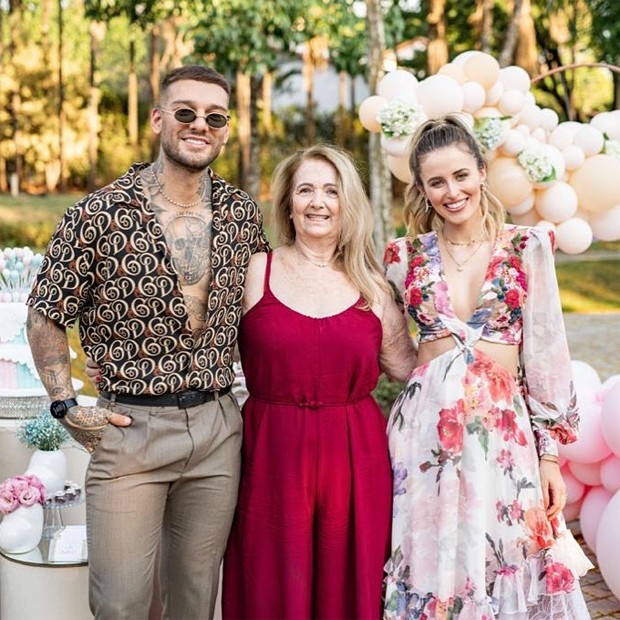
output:
[[[206,323],[192,336],[162,227],[135,164],[69,208],[28,299],[69,327],[79,319],[102,390],[163,394],[217,390],[234,380],[232,358],[250,256],[268,250],[258,205],[210,171],[213,241]]]

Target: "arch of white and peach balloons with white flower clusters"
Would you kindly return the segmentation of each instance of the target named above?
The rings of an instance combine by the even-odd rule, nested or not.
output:
[[[487,151],[489,189],[513,222],[554,229],[568,254],[594,239],[620,239],[620,110],[560,123],[536,105],[531,85],[521,67],[500,68],[493,56],[467,51],[422,81],[401,69],[386,74],[359,117],[381,132],[392,174],[408,183],[416,127],[461,113]]]

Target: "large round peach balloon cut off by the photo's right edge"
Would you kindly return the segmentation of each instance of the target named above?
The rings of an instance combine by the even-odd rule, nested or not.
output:
[[[570,184],[577,192],[579,206],[592,213],[603,213],[620,199],[620,159],[593,155],[573,172]]]

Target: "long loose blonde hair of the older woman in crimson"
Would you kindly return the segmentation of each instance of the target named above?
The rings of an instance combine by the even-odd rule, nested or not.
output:
[[[293,153],[278,165],[271,184],[272,224],[278,242],[289,246],[295,243],[295,225],[290,217],[295,175],[309,160],[322,160],[336,170],[342,227],[335,262],[360,291],[364,308],[369,309],[378,300],[378,289],[388,293],[390,289],[375,256],[372,208],[355,163],[346,151],[317,144]]]

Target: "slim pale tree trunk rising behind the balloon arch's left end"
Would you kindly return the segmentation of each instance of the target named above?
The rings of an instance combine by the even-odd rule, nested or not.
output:
[[[377,85],[383,75],[383,53],[385,51],[385,30],[381,0],[366,0],[368,27],[368,85],[370,93],[377,93]],[[377,258],[381,259],[388,240],[394,237],[391,221],[392,177],[387,157],[381,148],[381,136],[368,135],[368,170],[370,203],[375,216],[374,241]]]

